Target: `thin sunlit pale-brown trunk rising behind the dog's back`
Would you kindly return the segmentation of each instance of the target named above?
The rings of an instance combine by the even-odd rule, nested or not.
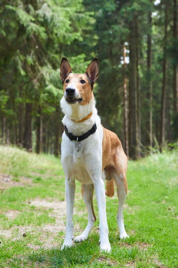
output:
[[[129,157],[129,139],[128,139],[128,94],[127,94],[127,76],[126,76],[126,47],[124,46],[124,150]]]

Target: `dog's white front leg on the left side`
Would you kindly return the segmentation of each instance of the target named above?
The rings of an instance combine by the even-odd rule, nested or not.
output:
[[[67,220],[66,220],[66,235],[61,250],[65,247],[72,246],[73,239],[73,211],[74,211],[74,197],[75,197],[75,179],[66,177],[65,179],[65,196],[67,202]]]

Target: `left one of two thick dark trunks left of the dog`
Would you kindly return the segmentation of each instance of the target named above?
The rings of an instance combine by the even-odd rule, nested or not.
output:
[[[25,105],[25,130],[23,146],[28,151],[32,151],[32,103]]]

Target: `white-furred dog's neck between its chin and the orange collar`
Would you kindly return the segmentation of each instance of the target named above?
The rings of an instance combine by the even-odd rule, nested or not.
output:
[[[95,101],[94,97],[91,98],[89,104],[80,105],[80,104],[68,104],[63,97],[60,101],[62,112],[65,116],[76,123],[82,123],[88,120],[93,113],[95,113]]]

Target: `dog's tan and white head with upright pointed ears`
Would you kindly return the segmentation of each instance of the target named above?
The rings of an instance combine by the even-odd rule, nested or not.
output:
[[[93,96],[93,85],[98,76],[98,59],[94,58],[85,73],[73,73],[66,58],[61,59],[60,78],[63,83],[64,98],[69,104],[88,104]]]

